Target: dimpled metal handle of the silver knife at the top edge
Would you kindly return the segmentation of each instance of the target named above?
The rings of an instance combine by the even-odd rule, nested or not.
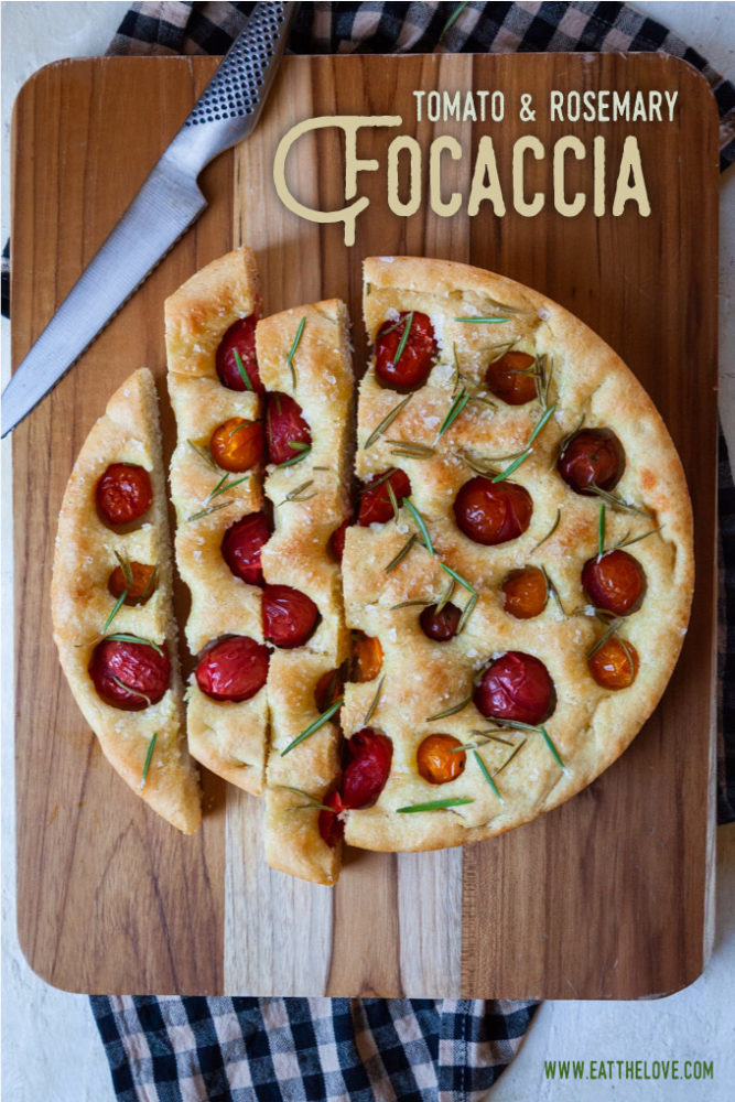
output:
[[[285,50],[295,3],[257,3],[184,127],[242,119],[241,137],[252,129],[278,62]]]

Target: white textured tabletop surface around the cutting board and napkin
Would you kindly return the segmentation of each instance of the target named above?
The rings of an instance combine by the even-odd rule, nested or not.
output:
[[[3,2],[2,217],[10,225],[9,137],[12,102],[35,69],[61,57],[105,52],[126,2]],[[447,13],[454,4],[447,3]],[[687,39],[720,72],[735,77],[735,3],[638,3]],[[722,188],[721,412],[735,455],[735,170]],[[2,322],[2,371],[9,368]],[[107,1061],[86,996],[47,986],[28,968],[15,934],[15,843],[12,745],[12,543],[10,451],[2,457],[2,1088],[13,1102],[114,1102]],[[691,987],[637,1003],[549,1002],[537,1014],[520,1055],[491,1091],[490,1102],[729,1102],[735,1083],[735,824],[717,832],[716,939],[712,960]],[[245,994],[245,993],[244,993]],[[547,1059],[706,1059],[714,1082],[554,1083]]]

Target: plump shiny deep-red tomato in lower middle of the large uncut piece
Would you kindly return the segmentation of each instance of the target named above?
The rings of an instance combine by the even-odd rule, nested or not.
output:
[[[538,726],[554,710],[554,684],[549,671],[532,655],[509,650],[490,662],[474,693],[487,719],[515,720]]]

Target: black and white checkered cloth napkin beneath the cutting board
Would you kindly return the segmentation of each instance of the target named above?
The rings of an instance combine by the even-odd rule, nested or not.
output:
[[[221,54],[250,3],[133,3],[114,54]],[[735,87],[623,3],[304,3],[296,53],[662,51],[709,80],[721,165]],[[3,258],[4,259],[4,258]],[[720,819],[735,819],[735,488],[720,439]],[[729,674],[729,676],[727,676]],[[725,738],[727,734],[727,739]],[[93,997],[120,1102],[469,1102],[516,1055],[537,1004],[479,1000]]]

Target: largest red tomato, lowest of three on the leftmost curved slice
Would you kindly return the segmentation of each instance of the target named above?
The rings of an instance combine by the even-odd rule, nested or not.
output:
[[[163,696],[171,680],[171,660],[147,642],[102,639],[89,662],[97,695],[126,712],[140,712]]]

